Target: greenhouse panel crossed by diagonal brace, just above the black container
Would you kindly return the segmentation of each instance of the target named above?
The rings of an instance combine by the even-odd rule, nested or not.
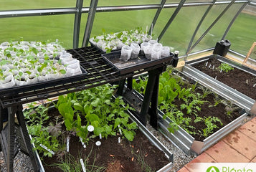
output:
[[[211,11],[209,11],[209,14],[207,15],[206,19],[204,19],[204,22],[202,23],[202,26],[199,29],[199,32],[196,34],[195,40],[193,44],[202,37],[202,34],[207,31],[207,29],[212,25],[212,23],[217,19],[217,17],[224,11],[227,4],[224,5],[215,5],[212,7]],[[222,36],[224,32],[227,29],[227,26],[229,25],[230,21],[234,17],[234,14],[237,12],[237,10],[240,8],[241,4],[232,5],[219,19],[219,21],[214,24],[214,27],[209,30],[209,32],[205,35],[205,37],[199,42],[199,44],[192,49],[191,52],[197,52],[202,49],[208,49],[215,46],[216,42],[219,42],[220,39],[222,39]]]

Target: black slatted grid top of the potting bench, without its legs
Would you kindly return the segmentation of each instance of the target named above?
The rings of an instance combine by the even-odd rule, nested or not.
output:
[[[133,69],[134,71],[130,70],[130,73],[125,72],[125,74],[120,75],[120,72],[113,65],[110,65],[103,59],[101,56],[102,52],[95,47],[69,49],[67,52],[70,52],[72,57],[80,61],[80,66],[86,70],[86,74],[0,90],[2,107],[7,108],[85,90],[90,87],[123,80],[127,77],[166,65],[164,63],[151,65],[146,69]]]

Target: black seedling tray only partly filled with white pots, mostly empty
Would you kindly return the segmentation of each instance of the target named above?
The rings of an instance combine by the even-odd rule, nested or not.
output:
[[[120,75],[123,75],[125,73],[133,72],[136,70],[143,70],[148,67],[153,67],[155,65],[160,64],[167,64],[171,65],[171,59],[174,57],[174,54],[170,52],[169,57],[163,57],[160,59],[150,60],[145,57],[143,54],[138,54],[138,58],[136,59],[129,59],[127,62],[120,59],[121,51],[115,51],[110,52],[108,54],[102,54],[103,59],[105,59],[106,62],[110,63],[113,67],[115,67],[118,72],[120,72]]]

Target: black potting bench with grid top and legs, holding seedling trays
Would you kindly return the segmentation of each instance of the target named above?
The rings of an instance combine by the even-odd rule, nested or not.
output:
[[[95,47],[84,47],[68,50],[72,56],[80,60],[80,66],[86,72],[81,75],[66,77],[47,82],[25,85],[22,87],[11,87],[0,90],[0,140],[1,150],[9,172],[14,171],[14,158],[19,151],[26,153],[32,161],[34,171],[40,171],[36,155],[32,151],[29,134],[23,115],[23,104],[44,100],[49,97],[64,95],[70,92],[85,90],[90,87],[104,85],[106,83],[118,83],[117,94],[122,95],[125,80],[128,80],[128,90],[132,89],[133,75],[148,72],[148,85],[146,95],[143,100],[141,112],[137,115],[139,120],[145,125],[146,115],[151,102],[151,123],[157,126],[157,97],[158,81],[161,72],[166,70],[166,66],[172,62],[172,55],[164,62],[155,64],[154,62],[146,68],[137,67],[136,70],[120,74],[113,65],[103,59],[102,52]],[[17,121],[15,120],[15,116]]]

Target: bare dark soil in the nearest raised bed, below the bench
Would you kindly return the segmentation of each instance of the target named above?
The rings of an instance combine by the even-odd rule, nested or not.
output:
[[[49,115],[58,115],[57,113],[55,109],[49,111]],[[146,164],[152,171],[157,171],[170,163],[165,154],[152,145],[140,130],[136,130],[136,137],[132,142],[121,138],[120,143],[118,143],[118,137],[120,135],[108,137],[107,139],[91,138],[87,147],[83,148],[80,139],[70,135],[70,153],[66,151],[59,153],[59,160],[57,160],[57,155],[52,158],[44,158],[42,161],[44,170],[47,172],[62,171],[58,166],[49,165],[60,163],[69,154],[74,156],[78,162],[79,158],[85,160],[90,155],[87,159],[87,165],[104,166],[107,172],[142,172],[146,171]],[[98,140],[101,142],[100,146],[95,145]],[[60,155],[62,155],[63,159],[60,158]],[[140,158],[142,160],[139,160]]]

